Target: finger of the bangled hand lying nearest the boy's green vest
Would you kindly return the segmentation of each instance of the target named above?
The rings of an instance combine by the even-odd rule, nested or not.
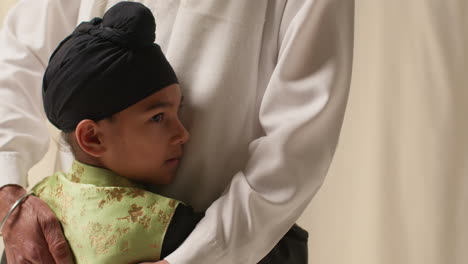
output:
[[[50,209],[49,209],[50,210]],[[62,232],[62,227],[57,217],[50,212],[50,215],[44,217],[42,223],[42,232],[49,245],[49,251],[56,263],[72,264],[73,258],[68,242]]]

